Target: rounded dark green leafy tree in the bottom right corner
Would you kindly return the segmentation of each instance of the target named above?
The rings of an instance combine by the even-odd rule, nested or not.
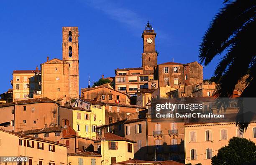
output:
[[[256,162],[256,145],[245,138],[234,137],[212,157],[212,165],[248,165]]]

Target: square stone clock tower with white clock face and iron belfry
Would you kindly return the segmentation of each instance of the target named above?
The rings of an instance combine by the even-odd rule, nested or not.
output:
[[[157,66],[157,53],[155,49],[156,33],[150,23],[147,23],[141,38],[143,38],[142,68],[144,74],[153,74]]]

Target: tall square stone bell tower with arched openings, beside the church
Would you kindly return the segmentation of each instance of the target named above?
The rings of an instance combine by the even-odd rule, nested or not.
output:
[[[69,62],[69,96],[79,97],[78,27],[62,27],[62,60]]]

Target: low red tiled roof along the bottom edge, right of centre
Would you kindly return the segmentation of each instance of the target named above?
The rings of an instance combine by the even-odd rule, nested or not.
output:
[[[183,163],[175,162],[173,160],[166,160],[166,161],[148,161],[148,160],[126,160],[123,162],[118,162],[118,163],[113,163],[112,165],[127,165],[127,164],[132,164],[132,165],[184,165]]]

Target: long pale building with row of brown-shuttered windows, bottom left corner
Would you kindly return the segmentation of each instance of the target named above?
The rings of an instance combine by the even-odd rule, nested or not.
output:
[[[67,146],[64,144],[5,130],[0,130],[0,140],[1,157],[28,157],[28,165],[67,165]],[[16,162],[9,164],[18,165]]]

